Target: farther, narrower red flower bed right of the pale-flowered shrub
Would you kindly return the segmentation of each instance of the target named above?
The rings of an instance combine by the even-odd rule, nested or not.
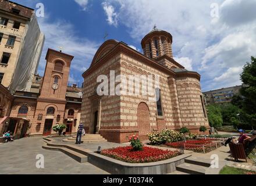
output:
[[[165,145],[171,146],[173,148],[184,148],[189,151],[194,152],[210,152],[213,149],[219,148],[221,146],[218,142],[213,142],[211,139],[201,139],[201,140],[188,140],[187,142],[179,141],[166,143]]]

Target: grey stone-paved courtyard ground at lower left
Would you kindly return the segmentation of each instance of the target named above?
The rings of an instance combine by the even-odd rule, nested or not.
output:
[[[62,152],[42,149],[42,138],[23,138],[0,144],[0,174],[108,174],[90,163],[79,163]],[[35,164],[44,155],[44,169]]]

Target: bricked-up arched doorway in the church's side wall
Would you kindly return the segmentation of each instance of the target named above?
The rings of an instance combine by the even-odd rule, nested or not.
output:
[[[137,109],[138,134],[141,140],[147,140],[150,133],[150,110],[146,103],[141,102]]]

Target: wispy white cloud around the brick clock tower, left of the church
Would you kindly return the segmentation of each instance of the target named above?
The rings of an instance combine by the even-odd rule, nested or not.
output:
[[[59,50],[58,47],[63,47],[63,53],[74,56],[70,69],[71,80],[75,79],[76,83],[82,81],[81,74],[90,66],[99,44],[88,40],[88,38],[77,37],[73,25],[63,20],[52,22],[47,17],[44,17],[39,19],[38,22],[46,38],[38,73],[40,73],[41,76],[44,75],[45,56],[48,48]]]

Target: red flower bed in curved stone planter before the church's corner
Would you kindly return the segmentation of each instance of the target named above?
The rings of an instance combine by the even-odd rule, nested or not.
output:
[[[169,151],[143,146],[143,151],[134,151],[131,146],[123,146],[113,149],[104,149],[101,155],[108,156],[127,163],[158,162],[181,155],[180,151]]]

